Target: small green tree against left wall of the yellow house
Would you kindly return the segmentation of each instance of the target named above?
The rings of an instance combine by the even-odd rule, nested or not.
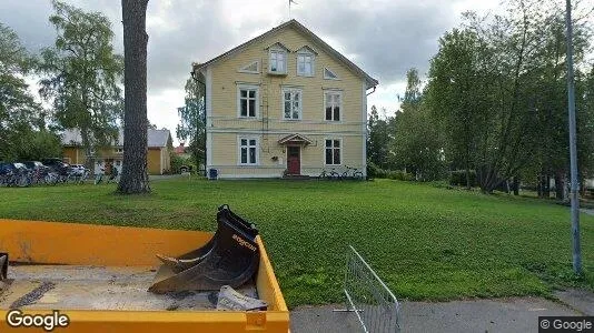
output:
[[[176,134],[189,141],[188,149],[196,165],[206,165],[206,107],[205,87],[192,78],[186,81],[186,103],[178,108],[179,124]]]

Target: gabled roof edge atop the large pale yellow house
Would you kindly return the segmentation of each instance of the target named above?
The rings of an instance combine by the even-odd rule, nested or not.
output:
[[[330,46],[328,46],[324,40],[321,40],[319,37],[317,37],[314,32],[311,32],[309,29],[305,28],[305,26],[303,26],[301,23],[299,23],[297,20],[293,19],[290,21],[287,21],[278,27],[275,27],[270,30],[268,30],[267,32],[256,37],[256,38],[253,38],[250,40],[248,40],[247,42],[214,58],[214,59],[210,59],[209,61],[207,62],[204,62],[204,63],[192,63],[192,71],[199,71],[201,69],[205,69],[206,67],[212,64],[212,63],[216,63],[220,60],[224,60],[228,57],[231,57],[234,54],[236,54],[237,52],[244,50],[245,48],[251,46],[253,43],[255,42],[258,42],[280,30],[284,30],[285,28],[294,28],[295,30],[304,33],[305,36],[307,36],[308,38],[310,38],[311,40],[314,40],[314,42],[316,42],[321,49],[324,49],[326,52],[328,52],[331,57],[334,57],[336,60],[338,60],[339,62],[341,62],[343,64],[345,64],[348,69],[350,69],[353,72],[355,72],[357,75],[362,77],[362,78],[365,78],[365,80],[367,81],[367,88],[373,88],[375,85],[377,85],[379,82],[372,78],[369,74],[367,74],[364,70],[362,70],[359,67],[357,67],[355,63],[353,63],[353,61],[348,60],[345,56],[343,56],[340,52],[336,51],[335,49],[333,49]]]

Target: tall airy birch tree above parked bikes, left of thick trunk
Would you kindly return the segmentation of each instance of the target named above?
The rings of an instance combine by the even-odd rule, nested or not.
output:
[[[52,102],[58,124],[80,130],[87,157],[117,138],[121,117],[123,62],[113,53],[108,18],[52,1],[50,22],[58,32],[52,48],[41,52],[41,94]],[[87,163],[92,163],[90,159]]]

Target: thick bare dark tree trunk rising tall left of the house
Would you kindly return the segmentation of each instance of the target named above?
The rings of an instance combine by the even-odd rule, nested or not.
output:
[[[150,192],[147,172],[148,0],[121,0],[123,23],[123,165],[118,192]]]

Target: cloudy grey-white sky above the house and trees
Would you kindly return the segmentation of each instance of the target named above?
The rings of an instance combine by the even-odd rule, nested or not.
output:
[[[488,11],[498,0],[295,0],[291,18],[379,80],[368,105],[393,113],[406,70],[426,73],[437,40],[466,10]],[[68,0],[101,11],[122,52],[121,1]],[[0,0],[0,21],[32,52],[51,46],[56,31],[49,0]],[[204,62],[289,18],[288,0],[150,0],[147,13],[148,118],[175,138],[177,109],[192,61]],[[176,140],[177,142],[177,140]]]

